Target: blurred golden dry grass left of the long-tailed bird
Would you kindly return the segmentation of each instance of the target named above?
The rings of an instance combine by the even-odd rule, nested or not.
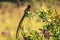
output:
[[[0,8],[0,40],[15,40],[16,29],[26,5],[18,8],[16,4],[8,2],[0,4],[2,4],[2,8]],[[2,35],[2,32],[8,32],[8,38]]]

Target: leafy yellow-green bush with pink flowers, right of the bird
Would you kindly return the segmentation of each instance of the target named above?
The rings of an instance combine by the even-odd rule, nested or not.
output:
[[[31,13],[30,13],[31,14]],[[32,17],[28,13],[27,17]],[[23,35],[23,38],[25,40],[60,40],[60,18],[58,17],[58,14],[56,10],[38,10],[37,14],[38,17],[42,22],[45,22],[46,24],[44,26],[40,26],[38,30],[25,32],[25,28],[22,27],[21,33]],[[42,28],[41,28],[42,27]]]

